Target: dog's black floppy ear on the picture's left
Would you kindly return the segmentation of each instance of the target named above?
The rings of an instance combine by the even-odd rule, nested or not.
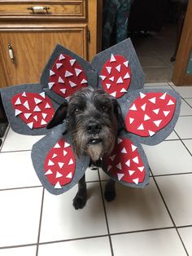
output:
[[[67,117],[68,113],[68,102],[64,102],[57,108],[54,117],[50,120],[50,122],[47,124],[46,129],[53,128],[60,123],[63,122],[63,120]]]

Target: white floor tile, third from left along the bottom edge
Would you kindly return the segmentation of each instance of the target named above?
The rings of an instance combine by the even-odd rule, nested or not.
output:
[[[186,256],[175,229],[111,236],[114,256]]]

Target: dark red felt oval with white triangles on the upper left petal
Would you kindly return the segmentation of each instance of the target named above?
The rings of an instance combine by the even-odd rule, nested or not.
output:
[[[50,70],[50,90],[68,98],[76,90],[88,86],[87,77],[81,65],[70,56],[61,54]]]

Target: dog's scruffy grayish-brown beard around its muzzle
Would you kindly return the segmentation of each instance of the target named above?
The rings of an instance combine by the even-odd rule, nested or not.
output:
[[[96,135],[88,135],[85,130],[74,130],[72,148],[77,157],[88,155],[92,161],[98,161],[104,155],[110,155],[116,143],[116,130],[107,126]]]

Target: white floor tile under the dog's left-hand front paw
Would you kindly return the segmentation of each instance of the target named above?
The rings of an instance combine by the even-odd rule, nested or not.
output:
[[[45,193],[41,242],[107,234],[100,185],[87,183],[87,188],[89,198],[82,210],[72,206],[77,186],[59,196]]]

